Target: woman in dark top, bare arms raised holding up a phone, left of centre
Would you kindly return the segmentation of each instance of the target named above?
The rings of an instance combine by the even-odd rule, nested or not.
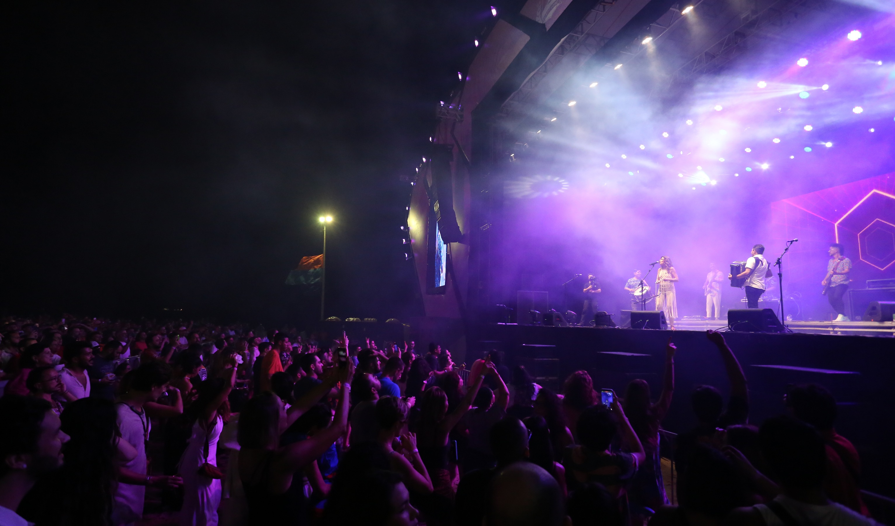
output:
[[[286,411],[283,401],[273,392],[261,392],[251,398],[239,415],[237,441],[240,444],[239,477],[249,504],[249,524],[282,526],[308,521],[303,508],[301,484],[293,483],[295,472],[326,453],[329,446],[345,435],[348,421],[348,378],[354,365],[337,367]],[[280,435],[296,419],[314,406],[341,382],[336,418],[326,428],[306,440],[280,444]]]

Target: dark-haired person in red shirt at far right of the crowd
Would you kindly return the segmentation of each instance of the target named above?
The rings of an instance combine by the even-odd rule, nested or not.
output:
[[[861,459],[855,446],[836,433],[836,399],[818,384],[795,385],[786,397],[789,413],[817,429],[826,444],[827,471],[823,491],[833,502],[848,506],[865,517],[870,516],[861,499]]]

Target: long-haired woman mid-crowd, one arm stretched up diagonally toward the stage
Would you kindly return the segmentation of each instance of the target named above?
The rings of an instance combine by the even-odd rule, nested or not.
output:
[[[470,378],[469,389],[450,413],[447,412],[447,393],[440,387],[430,387],[422,393],[420,421],[417,424],[420,456],[432,479],[434,492],[440,496],[453,499],[456,492],[456,464],[452,464],[448,456],[447,435],[473,405],[475,395],[482,387],[484,374],[493,370],[494,365],[490,361],[485,362],[482,370]]]

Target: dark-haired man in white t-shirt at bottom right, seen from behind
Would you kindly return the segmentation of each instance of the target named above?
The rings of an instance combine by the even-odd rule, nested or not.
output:
[[[762,458],[780,495],[765,504],[738,508],[730,513],[731,526],[878,526],[878,522],[831,502],[823,493],[827,465],[823,437],[796,418],[772,417],[758,433]],[[748,463],[746,461],[746,463]],[[749,466],[753,478],[770,483]]]

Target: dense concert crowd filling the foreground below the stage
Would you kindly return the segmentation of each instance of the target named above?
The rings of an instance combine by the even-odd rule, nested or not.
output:
[[[699,422],[679,435],[661,426],[670,340],[656,395],[288,327],[10,317],[0,333],[0,526],[877,523],[833,393],[793,385],[780,416],[750,420],[720,332],[728,384],[678,393]]]

